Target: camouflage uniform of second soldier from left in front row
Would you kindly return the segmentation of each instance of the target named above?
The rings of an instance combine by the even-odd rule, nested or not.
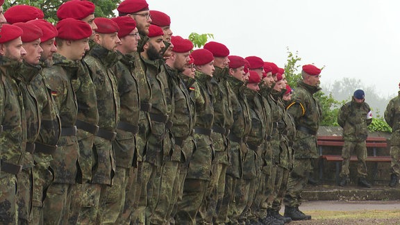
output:
[[[17,81],[22,93],[26,115],[26,148],[23,156],[24,167],[18,174],[18,223],[28,224],[31,222],[32,194],[33,194],[33,152],[35,151],[35,140],[39,135],[40,111],[38,98],[33,91],[31,81],[38,76],[42,68],[39,65],[28,65],[24,62],[21,69],[11,76]]]

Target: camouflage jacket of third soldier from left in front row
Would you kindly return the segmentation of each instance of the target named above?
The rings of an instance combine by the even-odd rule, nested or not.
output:
[[[42,63],[44,66],[44,63]],[[38,99],[40,112],[40,131],[35,141],[35,163],[47,163],[53,160],[52,152],[56,151],[61,135],[61,122],[56,103],[51,96],[51,89],[47,85],[42,72],[33,78],[31,87]]]

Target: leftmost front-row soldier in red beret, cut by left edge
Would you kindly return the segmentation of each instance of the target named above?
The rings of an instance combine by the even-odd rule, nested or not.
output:
[[[0,2],[1,5],[3,2]],[[2,8],[1,8],[2,9]],[[22,92],[13,77],[26,54],[22,29],[4,24],[0,32],[1,76],[1,194],[0,222],[17,224],[17,176],[22,170],[26,147],[26,116]]]

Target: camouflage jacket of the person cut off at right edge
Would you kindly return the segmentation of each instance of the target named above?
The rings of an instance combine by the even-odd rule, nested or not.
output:
[[[400,92],[387,103],[385,110],[385,121],[392,128],[391,145],[400,145]]]

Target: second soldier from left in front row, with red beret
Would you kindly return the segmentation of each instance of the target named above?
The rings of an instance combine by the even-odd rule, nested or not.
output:
[[[40,38],[43,33],[38,26],[33,24],[17,22],[14,24],[22,29],[22,47],[26,50],[24,63],[19,71],[13,74],[14,79],[19,84],[24,101],[24,109],[26,115],[26,148],[23,156],[24,168],[18,177],[18,221],[19,224],[28,224],[31,222],[32,212],[32,190],[33,176],[32,167],[33,152],[35,151],[35,141],[39,135],[40,129],[40,112],[38,108],[38,98],[33,92],[32,81],[36,76],[40,76],[39,65],[40,56],[43,51],[40,47]]]

